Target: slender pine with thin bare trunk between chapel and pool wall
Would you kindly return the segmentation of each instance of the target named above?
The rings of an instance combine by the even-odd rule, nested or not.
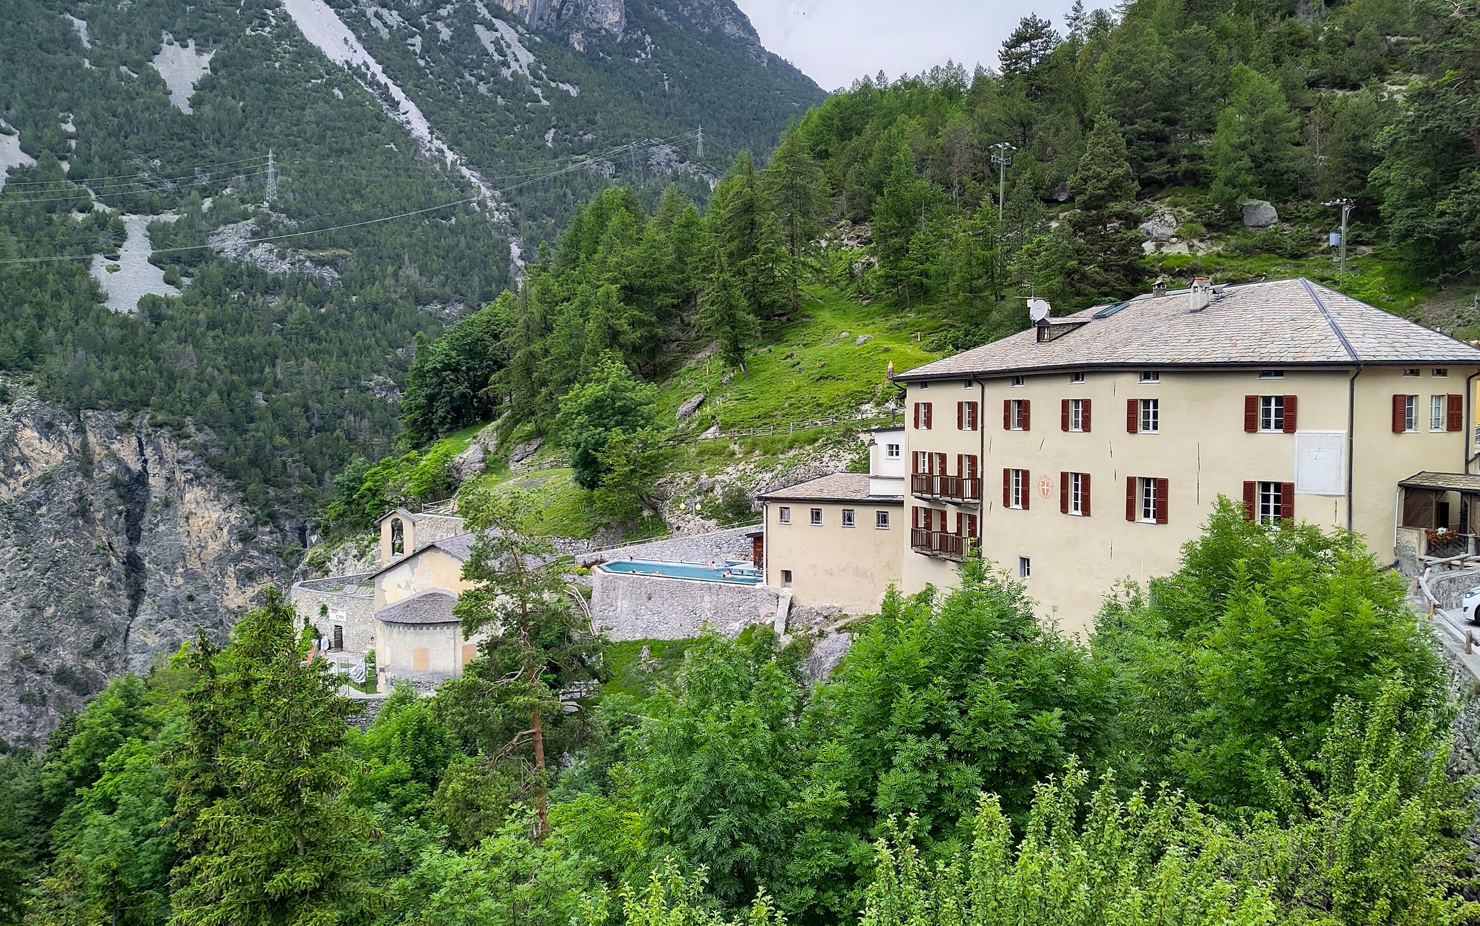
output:
[[[462,572],[471,587],[453,614],[466,638],[487,636],[465,675],[444,685],[443,709],[454,714],[453,729],[474,731],[493,763],[531,766],[543,834],[546,743],[564,748],[579,735],[583,720],[562,700],[576,683],[601,680],[601,638],[574,606],[555,546],[527,534],[525,497],[480,487],[459,499],[459,510],[477,540]]]

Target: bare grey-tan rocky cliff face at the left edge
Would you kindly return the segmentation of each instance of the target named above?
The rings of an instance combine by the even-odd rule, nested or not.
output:
[[[197,435],[200,439],[200,435]],[[231,624],[281,535],[147,416],[0,402],[0,737],[37,744],[110,677]]]

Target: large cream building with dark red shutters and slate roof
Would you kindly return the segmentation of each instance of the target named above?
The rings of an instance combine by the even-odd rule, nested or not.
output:
[[[1218,496],[1351,528],[1391,562],[1416,473],[1439,487],[1422,527],[1470,533],[1477,497],[1443,490],[1470,470],[1477,371],[1476,348],[1305,280],[1045,318],[895,377],[901,589],[952,584],[974,543],[1083,630],[1117,581],[1175,570]]]

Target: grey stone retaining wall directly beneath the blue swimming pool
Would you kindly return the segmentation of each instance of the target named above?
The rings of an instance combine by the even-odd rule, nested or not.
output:
[[[740,636],[750,624],[771,624],[780,590],[697,578],[633,575],[596,570],[592,621],[614,641],[682,641],[710,624]]]

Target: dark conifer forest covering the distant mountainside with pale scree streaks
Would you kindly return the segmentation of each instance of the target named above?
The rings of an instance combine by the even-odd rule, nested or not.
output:
[[[416,334],[435,339],[511,285],[511,238],[533,250],[614,179],[651,204],[684,167],[681,185],[703,197],[703,178],[736,149],[767,148],[820,98],[758,46],[630,6],[623,41],[648,47],[638,62],[614,37],[592,37],[583,55],[525,31],[549,81],[579,83],[579,95],[545,86],[549,105],[525,107],[515,98],[534,98],[527,75],[503,74],[477,34],[496,15],[512,30],[503,10],[454,9],[445,43],[423,24],[432,80],[407,58],[406,36],[386,43],[343,4],[434,127],[508,191],[480,209],[468,180],[420,151],[277,3],[9,4],[0,133],[36,164],[12,167],[0,189],[0,373],[67,408],[194,425],[210,436],[203,454],[263,518],[309,513],[355,453],[392,447]],[[151,65],[167,40],[186,38],[213,55],[191,112]],[[454,61],[485,92],[447,78]],[[503,96],[509,105],[494,107]],[[648,164],[657,148],[660,169]],[[277,198],[263,204],[269,151]],[[181,216],[155,222],[151,240],[182,293],[145,296],[136,315],[105,308],[89,274],[93,254],[117,259],[123,213]],[[394,216],[406,217],[383,220]],[[203,247],[240,223],[250,237],[354,226],[281,243],[327,272],[268,274]]]

